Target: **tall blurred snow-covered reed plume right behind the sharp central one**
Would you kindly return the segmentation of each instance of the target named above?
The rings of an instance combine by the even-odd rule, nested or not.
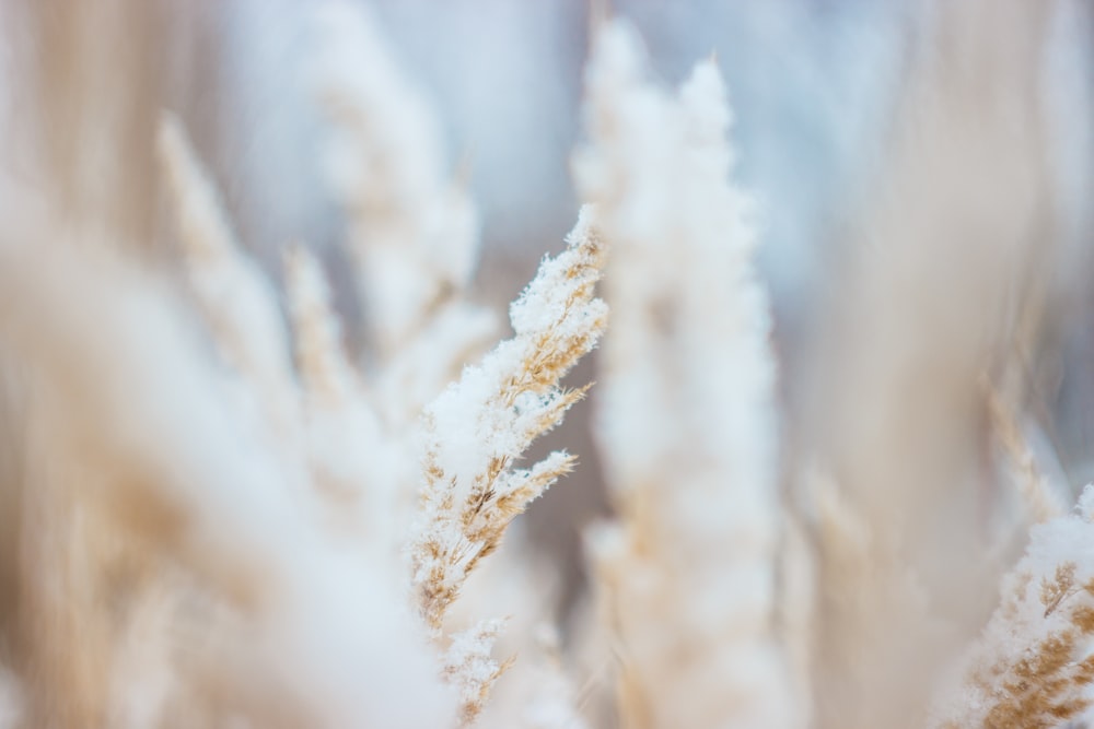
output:
[[[574,164],[612,247],[597,425],[620,512],[593,552],[621,710],[628,726],[796,726],[772,630],[770,317],[749,200],[729,181],[721,79],[700,63],[670,95],[645,80],[629,27],[613,24],[587,105]]]

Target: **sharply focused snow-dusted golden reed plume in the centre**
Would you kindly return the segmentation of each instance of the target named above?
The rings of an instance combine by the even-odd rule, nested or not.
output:
[[[515,468],[532,442],[584,396],[587,388],[566,389],[560,380],[596,345],[606,324],[606,306],[593,295],[605,251],[587,211],[568,243],[566,251],[544,260],[510,307],[513,339],[465,369],[426,410],[421,518],[410,557],[419,610],[434,634],[509,522],[573,466],[573,456],[556,451]],[[470,635],[488,642],[497,632],[496,623],[486,622]],[[452,649],[466,654],[467,637],[457,636]],[[501,670],[479,670],[481,687],[464,689],[468,718],[481,709]]]

